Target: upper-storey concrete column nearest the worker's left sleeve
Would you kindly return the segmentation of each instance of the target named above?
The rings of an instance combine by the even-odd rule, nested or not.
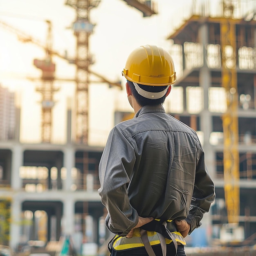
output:
[[[63,189],[69,191],[72,186],[71,169],[75,167],[75,150],[68,145],[64,150],[64,167],[66,168],[66,179],[63,181]]]

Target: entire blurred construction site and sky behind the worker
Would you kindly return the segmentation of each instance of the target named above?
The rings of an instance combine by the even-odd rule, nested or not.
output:
[[[216,201],[187,255],[255,255],[254,0],[0,0],[0,252],[108,255],[98,165],[133,117],[128,54],[173,56],[168,114],[203,145]]]

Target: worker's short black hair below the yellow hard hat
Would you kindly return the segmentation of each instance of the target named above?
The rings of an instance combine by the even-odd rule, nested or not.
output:
[[[132,95],[135,97],[139,106],[141,106],[141,107],[147,106],[147,105],[156,106],[156,105],[164,103],[165,98],[166,98],[166,94],[162,98],[159,98],[159,99],[147,99],[147,98],[141,96],[137,92],[137,90],[135,89],[134,84],[131,81],[127,80],[127,82],[128,82],[128,85],[130,86],[130,89],[132,91]],[[138,85],[141,89],[143,89],[147,92],[162,92],[168,86],[168,85],[164,85],[164,86],[141,85],[139,83],[138,83]]]

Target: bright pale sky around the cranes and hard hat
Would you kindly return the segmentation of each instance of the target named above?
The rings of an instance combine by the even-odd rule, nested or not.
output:
[[[158,14],[146,18],[123,0],[101,0],[99,6],[90,11],[91,22],[96,24],[90,36],[90,52],[95,60],[92,70],[111,81],[121,80],[124,85],[121,70],[133,49],[145,44],[171,49],[171,42],[166,38],[190,13],[192,0],[155,2]],[[38,38],[42,43],[46,38],[46,19],[51,20],[53,25],[54,50],[60,54],[67,51],[68,56],[73,57],[75,37],[72,29],[67,28],[75,21],[75,10],[65,5],[65,0],[0,0],[0,20]],[[33,60],[43,59],[44,56],[43,49],[20,42],[16,34],[0,26],[0,84],[18,92],[18,102],[22,107],[22,141],[40,141],[40,94],[35,92],[40,81],[32,82],[25,78],[40,77],[40,70],[34,67]],[[57,57],[54,57],[54,62],[56,77],[74,78],[74,65]],[[67,98],[74,97],[75,85],[61,81],[56,81],[55,85],[60,88],[55,94],[53,112],[53,138],[58,143],[65,138]],[[105,143],[114,125],[117,102],[119,105],[123,103],[119,108],[131,111],[124,90],[109,89],[106,84],[90,85],[90,144],[98,144],[98,140],[101,144]]]

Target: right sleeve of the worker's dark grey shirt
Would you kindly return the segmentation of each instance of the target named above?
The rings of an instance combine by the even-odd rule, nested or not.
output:
[[[191,225],[189,234],[201,225],[204,213],[215,200],[215,188],[204,161],[204,151],[199,144],[198,162],[195,170],[195,184],[192,201],[186,221]]]

